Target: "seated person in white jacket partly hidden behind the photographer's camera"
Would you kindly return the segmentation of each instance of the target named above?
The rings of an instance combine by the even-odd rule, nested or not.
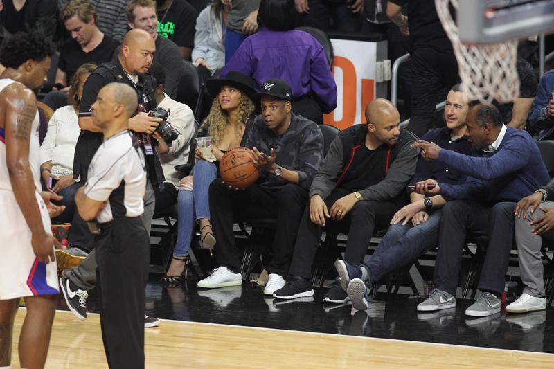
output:
[[[157,128],[157,132],[153,134],[159,143],[157,152],[163,169],[163,176],[166,179],[161,190],[154,186],[157,213],[177,202],[179,172],[175,170],[175,165],[186,163],[188,159],[189,143],[195,134],[195,117],[190,107],[172,100],[163,91],[166,86],[166,73],[160,66],[152,66],[150,74],[156,79],[154,97],[158,105],[151,115],[159,118],[165,116],[163,122]]]

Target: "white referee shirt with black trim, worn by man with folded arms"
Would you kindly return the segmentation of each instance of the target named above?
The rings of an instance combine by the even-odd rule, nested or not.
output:
[[[96,216],[99,223],[144,213],[146,164],[142,150],[129,131],[108,138],[98,148],[89,166],[84,194],[107,204]]]

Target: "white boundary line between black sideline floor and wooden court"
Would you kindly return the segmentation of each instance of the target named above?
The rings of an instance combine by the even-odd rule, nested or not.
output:
[[[25,307],[22,307],[25,309]],[[73,314],[72,312],[69,312],[67,310],[56,310],[56,313],[58,312],[64,312]],[[87,312],[87,315],[100,315],[99,313],[89,313]],[[350,336],[348,334],[335,334],[335,333],[322,333],[322,332],[307,332],[302,330],[282,330],[278,328],[267,328],[267,327],[250,327],[248,325],[233,325],[233,324],[221,324],[221,323],[204,323],[204,322],[193,322],[193,321],[175,321],[172,319],[161,319],[160,321],[165,322],[171,322],[171,323],[181,323],[181,324],[193,324],[193,325],[215,325],[217,327],[233,327],[233,328],[243,328],[243,329],[250,329],[250,330],[268,330],[271,332],[293,332],[293,333],[301,333],[301,334],[311,334],[311,335],[321,335],[321,336],[332,336],[332,337],[342,337],[342,338],[353,338],[353,339],[364,339],[364,340],[370,340],[370,341],[386,341],[386,342],[402,342],[402,343],[415,343],[419,345],[435,345],[435,346],[441,346],[441,347],[449,347],[449,348],[473,348],[476,350],[487,350],[487,351],[499,351],[499,352],[515,352],[517,354],[535,354],[535,355],[546,355],[546,356],[553,356],[554,354],[548,353],[548,352],[535,352],[535,351],[524,351],[524,350],[511,350],[507,348],[483,348],[480,346],[472,346],[472,345],[454,345],[452,343],[436,343],[436,342],[425,342],[425,341],[410,341],[407,339],[384,339],[379,337],[368,337],[368,336]],[[148,328],[148,329],[153,329]]]

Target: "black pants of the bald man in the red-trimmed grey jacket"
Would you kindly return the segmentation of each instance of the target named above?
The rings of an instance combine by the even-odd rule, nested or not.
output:
[[[335,201],[348,194],[350,194],[349,190],[336,189],[325,199],[325,205],[330,209]],[[325,230],[348,231],[344,260],[350,264],[359,265],[364,261],[375,227],[386,228],[399,208],[397,204],[389,201],[358,201],[341,221],[325,219]],[[312,276],[312,263],[322,232],[323,228],[310,219],[310,204],[308,204],[298,228],[298,237],[289,269],[291,276],[303,278]]]

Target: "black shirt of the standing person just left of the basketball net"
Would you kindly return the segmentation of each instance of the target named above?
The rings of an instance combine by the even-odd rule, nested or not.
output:
[[[438,19],[435,0],[388,0],[398,6],[408,4],[410,50],[434,48],[440,53],[454,53],[443,24]]]

